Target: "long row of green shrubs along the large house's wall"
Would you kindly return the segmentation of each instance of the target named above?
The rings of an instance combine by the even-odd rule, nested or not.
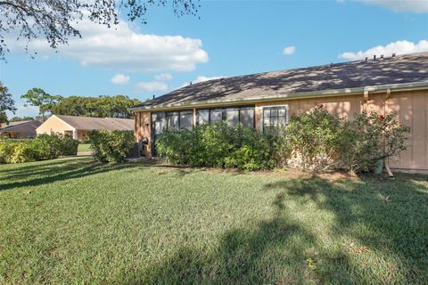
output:
[[[358,172],[403,151],[409,131],[393,114],[363,112],[348,120],[320,105],[292,115],[288,126],[271,134],[227,126],[226,122],[192,130],[165,130],[156,141],[156,150],[170,163],[191,167],[296,167],[314,173],[342,168]]]

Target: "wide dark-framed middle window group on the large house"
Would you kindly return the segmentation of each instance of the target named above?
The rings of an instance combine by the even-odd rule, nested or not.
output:
[[[198,125],[226,120],[229,126],[241,123],[243,127],[254,127],[254,107],[197,110]]]

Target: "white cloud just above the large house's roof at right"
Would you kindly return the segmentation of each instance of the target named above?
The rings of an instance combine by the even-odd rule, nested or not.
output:
[[[366,57],[372,58],[373,55],[380,56],[384,54],[385,56],[391,56],[392,53],[405,54],[405,53],[422,53],[428,52],[428,41],[421,40],[419,43],[409,42],[407,40],[393,42],[388,45],[377,45],[372,48],[369,48],[366,51],[358,52],[347,52],[339,55],[340,58],[347,60],[361,60]]]

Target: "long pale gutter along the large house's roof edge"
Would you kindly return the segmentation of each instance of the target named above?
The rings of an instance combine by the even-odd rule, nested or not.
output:
[[[392,92],[402,92],[402,91],[416,91],[416,90],[426,90],[428,89],[428,81],[416,82],[416,83],[403,83],[396,85],[374,85],[374,86],[365,86],[357,88],[345,88],[345,89],[332,89],[324,91],[314,91],[314,92],[302,92],[302,93],[284,93],[276,94],[276,96],[258,96],[250,97],[244,99],[232,99],[232,100],[209,100],[204,102],[185,102],[177,104],[164,104],[157,106],[148,106],[148,107],[131,107],[128,110],[131,112],[142,111],[142,110],[179,110],[179,109],[189,109],[189,108],[203,108],[203,107],[214,107],[214,106],[231,106],[231,105],[244,105],[246,103],[252,102],[275,102],[281,100],[297,100],[297,99],[309,99],[317,97],[332,97],[332,96],[346,96],[346,95],[356,95],[364,94],[379,94],[379,93],[388,93]]]

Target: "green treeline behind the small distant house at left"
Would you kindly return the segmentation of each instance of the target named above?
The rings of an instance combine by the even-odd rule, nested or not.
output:
[[[84,116],[95,118],[132,118],[129,107],[141,103],[126,95],[102,95],[98,97],[51,95],[43,89],[33,88],[21,96],[28,105],[37,106],[45,120],[46,114]]]

